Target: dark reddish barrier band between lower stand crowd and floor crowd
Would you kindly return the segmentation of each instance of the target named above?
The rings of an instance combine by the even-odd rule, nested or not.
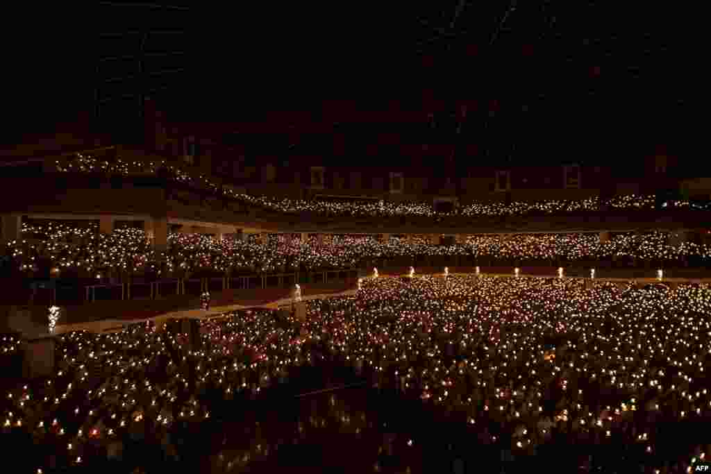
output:
[[[703,263],[703,262],[701,262]],[[711,276],[707,266],[689,265],[688,262],[640,261],[638,259],[610,259],[604,261],[564,259],[520,259],[477,257],[475,255],[421,255],[409,257],[372,257],[363,259],[359,267],[296,269],[280,273],[246,273],[223,276],[188,276],[187,278],[149,279],[135,276],[123,281],[102,281],[95,284],[82,280],[51,279],[49,281],[23,282],[22,289],[15,291],[13,304],[77,305],[96,301],[136,301],[172,298],[173,296],[198,297],[207,291],[215,293],[232,289],[293,288],[294,284],[322,284],[334,280],[353,279],[369,275],[373,267],[380,274],[400,271],[407,273],[410,266],[417,272],[439,273],[449,267],[474,273],[474,268],[488,269],[484,273],[513,273],[513,268],[523,268],[523,274],[555,275],[558,267],[564,267],[567,276],[589,276],[589,269],[596,269],[597,278],[653,278],[658,268],[663,267],[665,277],[701,278]],[[399,269],[399,270],[398,270]],[[16,285],[15,285],[16,286]],[[23,301],[20,301],[25,298]]]

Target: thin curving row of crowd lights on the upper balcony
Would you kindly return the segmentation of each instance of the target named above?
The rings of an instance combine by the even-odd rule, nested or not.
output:
[[[330,217],[504,217],[515,215],[546,215],[566,212],[594,212],[604,209],[614,210],[653,210],[658,205],[655,195],[617,195],[602,200],[597,196],[576,200],[540,200],[537,202],[492,202],[471,203],[461,208],[440,212],[431,202],[395,203],[386,200],[377,202],[333,202],[322,200],[305,200],[274,198],[264,195],[249,195],[240,193],[235,188],[220,185],[208,176],[186,172],[178,166],[161,162],[127,162],[115,158],[109,162],[78,154],[72,159],[58,161],[58,171],[65,173],[105,173],[107,175],[145,175],[164,176],[164,178],[189,185],[200,190],[207,190],[215,195],[226,196],[244,203],[257,205],[269,210],[287,214],[302,214],[304,212]],[[711,203],[696,203],[688,199],[670,199],[663,203],[665,209],[698,209],[711,210]]]

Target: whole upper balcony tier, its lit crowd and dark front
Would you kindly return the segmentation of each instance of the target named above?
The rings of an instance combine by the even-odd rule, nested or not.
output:
[[[629,232],[699,229],[711,217],[710,203],[661,203],[653,195],[471,203],[450,212],[437,212],[427,202],[289,200],[248,194],[165,161],[81,155],[4,171],[0,212],[167,216],[268,232]]]

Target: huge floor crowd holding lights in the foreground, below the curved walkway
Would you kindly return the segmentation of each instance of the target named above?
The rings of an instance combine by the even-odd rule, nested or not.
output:
[[[557,448],[548,472],[691,472],[707,459],[708,285],[380,277],[355,296],[305,304],[303,320],[255,310],[202,321],[198,343],[148,323],[61,335],[56,372],[2,397],[3,432],[14,440],[4,445],[34,443],[16,452],[32,452],[37,473],[184,461],[208,449],[187,446],[186,433],[207,433],[299,367],[330,360],[420,399],[487,450],[535,459]],[[217,450],[225,471],[249,458]]]

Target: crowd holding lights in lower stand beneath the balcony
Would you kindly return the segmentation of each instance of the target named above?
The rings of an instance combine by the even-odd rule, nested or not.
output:
[[[109,275],[150,274],[183,277],[196,272],[226,274],[284,273],[375,266],[387,259],[461,257],[467,264],[582,264],[583,262],[646,262],[662,266],[705,266],[707,244],[673,241],[668,232],[622,233],[601,242],[597,234],[470,235],[464,242],[433,244],[427,236],[258,235],[217,239],[210,235],[171,233],[165,251],[156,252],[143,230],[126,227],[110,235],[97,224],[23,222],[22,240],[9,242],[4,257],[26,276],[70,276],[103,279]],[[444,261],[444,260],[442,260]],[[449,263],[454,265],[454,263]]]

